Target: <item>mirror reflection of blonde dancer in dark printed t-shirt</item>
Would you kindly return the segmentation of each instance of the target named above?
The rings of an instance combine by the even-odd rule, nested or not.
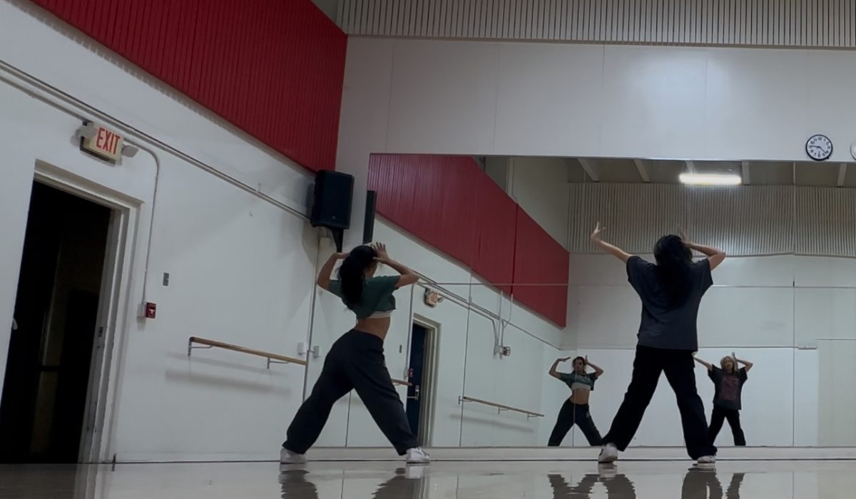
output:
[[[710,443],[716,442],[716,436],[722,430],[722,422],[728,419],[728,425],[731,426],[731,433],[734,435],[734,445],[738,447],[746,446],[746,436],[743,434],[743,429],[740,428],[740,394],[743,391],[743,383],[746,383],[746,373],[752,369],[752,362],[737,359],[734,352],[731,357],[722,357],[719,365],[710,365],[704,360],[696,359],[698,364],[704,365],[707,368],[707,375],[714,385],[713,395],[713,413],[710,414],[710,428],[708,436]],[[743,367],[737,369],[737,365],[742,364]]]

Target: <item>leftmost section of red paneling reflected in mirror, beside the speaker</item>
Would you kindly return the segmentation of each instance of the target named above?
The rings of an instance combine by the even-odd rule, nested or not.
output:
[[[470,264],[479,166],[470,157],[372,154],[369,189],[377,212],[407,232]]]

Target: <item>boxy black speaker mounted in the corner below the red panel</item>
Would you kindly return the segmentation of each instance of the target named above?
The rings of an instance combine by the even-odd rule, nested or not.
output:
[[[315,175],[314,199],[309,217],[312,227],[350,228],[353,195],[353,176],[327,169],[319,171]]]

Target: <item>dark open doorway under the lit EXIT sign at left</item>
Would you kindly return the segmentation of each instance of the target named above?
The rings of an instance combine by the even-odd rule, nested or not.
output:
[[[39,182],[0,399],[0,462],[77,462],[110,209]]]

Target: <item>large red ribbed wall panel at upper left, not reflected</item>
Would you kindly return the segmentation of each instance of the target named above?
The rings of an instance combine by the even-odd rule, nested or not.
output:
[[[311,0],[33,3],[296,163],[335,168],[348,37]]]

